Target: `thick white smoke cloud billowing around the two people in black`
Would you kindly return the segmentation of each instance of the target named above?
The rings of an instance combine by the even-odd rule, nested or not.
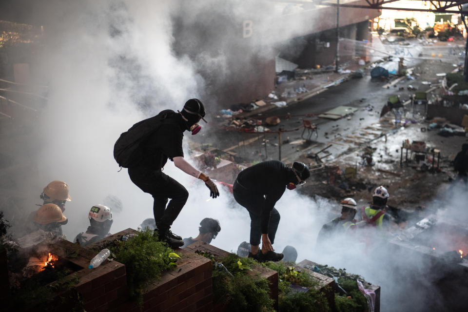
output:
[[[243,2],[229,1],[226,7],[233,10],[222,13],[241,17],[246,14]],[[248,15],[263,16],[265,8],[261,4],[255,7],[258,12]],[[151,195],[144,194],[130,181],[126,169],[117,173],[113,145],[120,133],[144,117],[163,109],[180,109],[188,98],[199,97],[205,102],[203,96],[210,81],[198,74],[204,66],[221,67],[217,72],[222,73],[222,78],[229,76],[230,68],[222,53],[200,50],[193,62],[184,55],[176,56],[171,48],[175,43],[196,44],[175,42],[172,18],[178,12],[193,13],[189,20],[183,21],[189,24],[198,12],[210,10],[219,13],[223,7],[219,1],[50,1],[38,11],[49,23],[45,26],[47,41],[38,68],[49,73],[50,92],[48,105],[40,116],[39,130],[28,142],[27,147],[34,147],[35,152],[29,158],[19,156],[37,163],[28,171],[27,178],[24,173],[17,176],[30,190],[26,196],[30,197],[31,205],[26,210],[36,210],[33,203],[39,203],[42,188],[59,179],[69,184],[72,197],[65,211],[69,223],[63,226],[69,240],[86,230],[89,209],[102,203],[107,195],[117,196],[123,205],[121,212],[114,212],[112,233],[137,228],[145,218],[153,217]],[[212,15],[213,19],[215,16]],[[290,26],[291,32],[300,27]],[[282,31],[284,35],[287,29]],[[229,44],[230,38],[222,40],[217,42],[219,46]],[[268,37],[264,40],[267,41],[263,44],[267,45]],[[214,115],[207,106],[207,119]],[[189,156],[186,146],[185,152]],[[173,225],[174,233],[195,237],[201,219],[213,217],[221,225],[213,245],[235,251],[242,241],[249,240],[249,215],[230,193],[221,187],[221,196],[210,199],[203,182],[177,170],[170,161],[164,172],[176,178],[190,193]],[[432,292],[430,283],[422,282],[414,289],[404,274],[395,274],[401,268],[390,250],[379,248],[369,254],[362,245],[351,243],[326,252],[315,250],[322,224],[339,215],[336,204],[286,191],[276,208],[281,215],[274,244],[277,252],[292,245],[297,249],[298,261],[307,258],[362,274],[368,281],[382,286],[382,311],[423,311],[405,308],[414,308],[419,303],[423,307],[423,298]],[[342,246],[341,241],[336,245]],[[413,262],[412,268],[424,264],[416,258],[406,261]]]

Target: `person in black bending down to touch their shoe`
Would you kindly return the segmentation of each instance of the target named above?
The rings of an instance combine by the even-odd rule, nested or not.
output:
[[[235,200],[249,212],[251,252],[249,257],[259,261],[279,261],[283,254],[273,252],[274,236],[280,215],[274,204],[283,195],[286,187],[292,190],[304,184],[310,176],[309,168],[295,161],[292,167],[279,160],[258,163],[239,173],[234,181]],[[258,252],[262,241],[261,252]]]

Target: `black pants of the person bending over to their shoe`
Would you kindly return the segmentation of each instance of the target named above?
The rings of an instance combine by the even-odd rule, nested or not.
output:
[[[261,209],[265,202],[265,197],[262,194],[256,194],[250,192],[242,187],[237,180],[234,182],[233,186],[234,199],[243,207],[247,209],[250,215],[250,244],[253,246],[260,245],[260,240],[262,237],[261,229]],[[274,236],[276,235],[276,230],[278,229],[280,215],[276,208],[273,208],[270,214],[270,221],[268,222],[268,238],[270,241],[274,242]]]

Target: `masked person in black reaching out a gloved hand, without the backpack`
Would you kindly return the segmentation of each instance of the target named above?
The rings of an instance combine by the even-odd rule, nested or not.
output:
[[[210,189],[210,196],[219,196],[215,183],[205,174],[192,167],[184,159],[182,138],[184,131],[198,133],[200,119],[206,122],[205,108],[199,99],[189,99],[182,112],[165,112],[165,122],[149,135],[140,145],[143,159],[137,165],[128,168],[128,175],[143,192],[154,198],[153,213],[155,216],[155,235],[173,248],[184,244],[182,237],[173,234],[169,229],[185,205],[189,193],[179,182],[165,175],[162,170],[167,159],[174,161],[183,172],[203,180]],[[171,199],[168,204],[168,199]],[[166,207],[167,204],[167,207]]]

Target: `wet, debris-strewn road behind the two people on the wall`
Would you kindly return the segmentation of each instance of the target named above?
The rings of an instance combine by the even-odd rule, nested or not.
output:
[[[311,119],[312,122],[319,125],[318,137],[312,136],[312,141],[302,143],[301,134],[303,129],[294,132],[282,133],[281,140],[284,141],[289,137],[289,144],[283,144],[281,149],[281,158],[286,161],[293,161],[295,157],[305,151],[317,152],[321,147],[329,144],[335,136],[342,137],[351,134],[359,128],[370,126],[371,124],[378,123],[378,117],[382,106],[387,102],[387,98],[395,94],[396,88],[390,89],[382,88],[384,82],[371,81],[370,76],[365,76],[360,79],[351,79],[340,85],[331,87],[329,90],[324,91],[317,96],[308,98],[304,101],[290,104],[288,107],[277,108],[263,114],[261,117],[279,116],[281,122],[277,126],[269,127],[272,131],[277,131],[279,128],[295,129],[302,125],[302,119]],[[409,92],[400,91],[399,94],[402,98],[408,98]],[[306,114],[315,114],[326,112],[332,108],[340,105],[356,107],[359,110],[353,114],[351,120],[342,118],[340,120],[330,120],[318,117],[306,117]],[[368,111],[366,107],[373,106],[372,111]],[[284,116],[287,114],[302,115],[291,117],[287,120]],[[307,134],[307,131],[306,133]],[[328,135],[327,135],[328,134]],[[211,130],[203,136],[197,137],[198,143],[211,143],[213,146],[224,150],[229,147],[242,144],[243,140],[251,140],[259,137],[258,140],[248,144],[245,148],[243,146],[231,150],[237,156],[243,157],[248,161],[261,161],[265,159],[278,159],[278,144],[277,134],[265,134],[265,138],[269,140],[267,143],[267,150],[265,152],[265,145],[262,145],[264,135],[258,134],[243,134],[237,132],[227,132],[224,130]],[[294,142],[296,141],[296,142]],[[333,144],[333,143],[331,143]],[[333,155],[342,153],[349,147],[347,143],[336,143],[329,149]]]

